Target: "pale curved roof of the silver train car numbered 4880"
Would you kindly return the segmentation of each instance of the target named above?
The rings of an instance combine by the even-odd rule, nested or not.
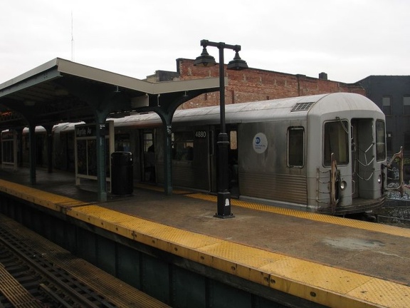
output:
[[[308,114],[320,115],[340,111],[371,111],[382,113],[369,98],[357,93],[327,93],[314,96],[298,96],[294,98],[278,98],[268,101],[228,104],[225,106],[226,123],[246,123],[256,120],[304,119]],[[177,110],[173,123],[196,124],[219,123],[219,106]],[[115,126],[158,125],[161,119],[157,113],[138,114],[114,119]]]

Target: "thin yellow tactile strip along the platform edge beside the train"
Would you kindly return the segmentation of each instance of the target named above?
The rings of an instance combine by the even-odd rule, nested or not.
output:
[[[195,193],[186,195],[186,197],[194,197],[201,200],[208,200],[216,202],[216,196],[206,195],[203,193]],[[313,212],[302,212],[299,210],[290,210],[283,207],[275,207],[272,205],[263,205],[259,203],[247,202],[243,200],[231,199],[231,205],[238,207],[246,207],[251,210],[259,210],[263,212],[272,212],[280,215],[288,215],[293,217],[299,217],[308,220],[315,220],[317,222],[326,222],[333,225],[342,225],[344,227],[354,227],[357,229],[363,229],[374,232],[387,233],[389,235],[396,235],[401,237],[410,237],[410,228],[399,228],[390,225],[381,225],[374,222],[364,222],[360,220],[351,220],[342,217],[336,217],[331,215],[316,214]]]

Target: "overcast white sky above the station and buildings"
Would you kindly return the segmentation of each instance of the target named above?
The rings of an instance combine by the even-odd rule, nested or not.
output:
[[[142,79],[199,56],[201,39],[241,45],[268,71],[410,75],[409,0],[3,0],[0,11],[0,83],[53,58]]]

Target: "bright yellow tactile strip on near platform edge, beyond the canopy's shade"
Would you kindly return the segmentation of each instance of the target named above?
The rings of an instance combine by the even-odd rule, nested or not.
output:
[[[327,307],[410,307],[410,287],[201,235],[98,205],[67,215]]]

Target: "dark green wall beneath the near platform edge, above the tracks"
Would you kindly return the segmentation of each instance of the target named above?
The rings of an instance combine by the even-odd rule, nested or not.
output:
[[[19,198],[1,192],[0,213],[172,307],[322,307],[122,237],[93,222],[77,220],[67,214],[68,209],[58,210],[57,205],[46,200],[39,202],[45,204],[38,204],[36,193],[27,194],[21,193],[26,197]]]

